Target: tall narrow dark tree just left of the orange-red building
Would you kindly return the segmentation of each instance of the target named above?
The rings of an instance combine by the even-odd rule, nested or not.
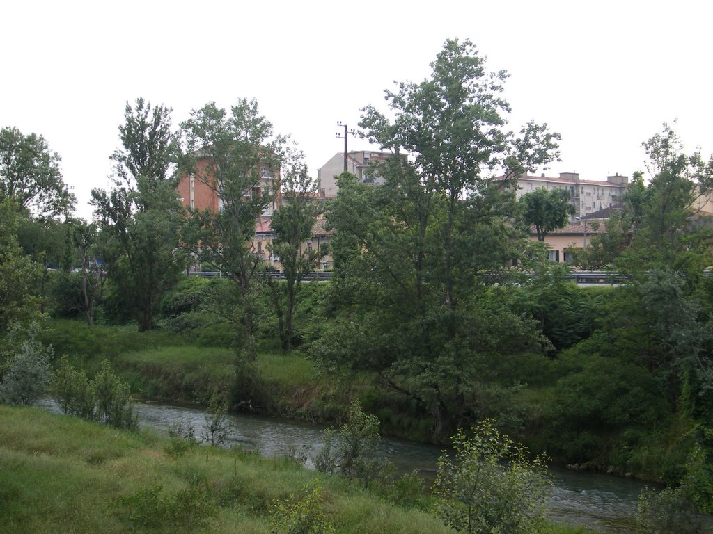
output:
[[[185,267],[179,246],[183,210],[175,192],[178,140],[170,112],[142,98],[133,107],[126,104],[119,127],[123,148],[111,156],[114,187],[92,191],[105,240],[102,259],[142,331],[153,328],[161,295]]]

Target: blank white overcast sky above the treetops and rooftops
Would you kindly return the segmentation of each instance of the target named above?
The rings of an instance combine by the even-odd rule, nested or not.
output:
[[[337,121],[386,111],[384,90],[429,76],[448,38],[507,70],[508,129],[560,133],[548,176],[645,171],[641,143],[673,123],[713,152],[713,3],[704,1],[7,1],[0,16],[0,127],[43,135],[91,217],[127,102],[173,108],[175,127],[215,101],[255,98],[310,172],[344,149]],[[358,138],[349,150],[378,149]]]

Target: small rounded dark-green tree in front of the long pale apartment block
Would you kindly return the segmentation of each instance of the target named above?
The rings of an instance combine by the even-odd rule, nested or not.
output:
[[[566,189],[535,189],[523,194],[518,200],[522,218],[528,226],[534,226],[538,241],[553,230],[566,226],[575,206],[570,204],[570,192]]]

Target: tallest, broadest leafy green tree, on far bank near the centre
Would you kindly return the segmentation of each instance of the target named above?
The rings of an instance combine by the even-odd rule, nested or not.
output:
[[[557,136],[534,123],[518,138],[505,129],[506,73],[487,73],[469,41],[447,41],[431,67],[386,91],[393,120],[364,110],[366,136],[394,157],[382,187],[339,180],[328,217],[347,317],[317,350],[327,365],[379,373],[443,436],[478,415],[489,358],[539,347],[532,325],[481,297],[521,248],[508,224],[513,179],[548,162]]]

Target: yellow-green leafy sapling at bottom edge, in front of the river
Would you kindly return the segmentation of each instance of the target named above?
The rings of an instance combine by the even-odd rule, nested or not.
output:
[[[540,532],[550,483],[545,458],[501,434],[491,420],[453,436],[454,454],[438,459],[436,513],[458,532]]]

